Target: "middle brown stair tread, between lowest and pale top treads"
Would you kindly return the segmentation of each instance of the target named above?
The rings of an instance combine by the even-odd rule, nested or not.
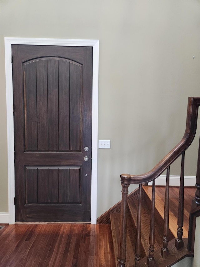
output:
[[[138,213],[138,203],[136,201],[128,201],[128,207],[130,214],[132,216],[134,225],[135,225],[135,231],[137,226],[137,213]],[[147,256],[148,255],[148,248],[149,248],[149,228],[150,228],[150,211],[148,210],[147,205],[142,201],[141,205],[141,255]],[[155,250],[162,247],[162,238],[163,233],[161,232],[161,228],[159,225],[155,222],[155,244],[154,248]],[[144,251],[142,251],[142,248]],[[145,253],[145,255],[143,255]]]

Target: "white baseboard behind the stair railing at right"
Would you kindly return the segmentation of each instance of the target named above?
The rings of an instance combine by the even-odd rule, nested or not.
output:
[[[148,183],[152,185],[152,182]],[[195,186],[196,184],[196,176],[184,176],[184,186]],[[156,185],[166,185],[166,175],[160,175],[156,179]],[[180,176],[179,175],[170,175],[169,178],[170,186],[179,186],[180,185]]]

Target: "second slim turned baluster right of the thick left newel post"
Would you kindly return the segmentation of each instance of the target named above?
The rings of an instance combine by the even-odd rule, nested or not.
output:
[[[151,221],[150,221],[150,234],[149,234],[149,256],[147,264],[149,267],[155,264],[154,261],[154,244],[155,244],[155,180],[152,186],[152,200],[151,200]]]

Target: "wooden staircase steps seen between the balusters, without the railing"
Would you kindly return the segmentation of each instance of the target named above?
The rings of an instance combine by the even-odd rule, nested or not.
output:
[[[139,190],[139,189],[138,189]],[[187,189],[189,196],[194,195],[195,187]],[[168,249],[171,257],[163,259],[161,256],[161,247],[163,239],[163,226],[164,226],[164,187],[156,187],[155,196],[155,252],[154,258],[156,260],[156,266],[172,266],[179,260],[185,257],[193,256],[192,253],[187,251],[187,236],[188,236],[188,223],[189,213],[188,210],[191,208],[192,197],[185,199],[185,215],[184,215],[184,230],[183,230],[183,241],[184,248],[180,250],[174,249],[175,238],[177,237],[177,218],[174,214],[178,211],[176,205],[178,198],[178,188],[173,191],[176,195],[173,196],[173,201],[170,201],[170,206],[173,211],[170,210],[169,214],[169,233],[168,233]],[[149,229],[151,220],[151,186],[142,187],[142,201],[141,201],[141,260],[140,266],[147,266],[147,259],[149,254]],[[134,192],[138,195],[138,192]],[[172,193],[171,193],[172,194]],[[175,204],[173,203],[175,202]],[[137,213],[138,213],[138,199],[130,198],[128,200],[128,216],[127,216],[127,251],[126,251],[126,267],[134,266],[135,258],[135,240],[136,240],[136,228],[137,228]],[[113,234],[113,245],[116,259],[116,266],[118,264],[118,243],[119,243],[119,231],[120,231],[120,213],[110,213],[111,229]]]

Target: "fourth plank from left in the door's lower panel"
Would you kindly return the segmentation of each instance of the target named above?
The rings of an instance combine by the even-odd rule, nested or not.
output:
[[[59,169],[59,203],[69,202],[69,169]]]

